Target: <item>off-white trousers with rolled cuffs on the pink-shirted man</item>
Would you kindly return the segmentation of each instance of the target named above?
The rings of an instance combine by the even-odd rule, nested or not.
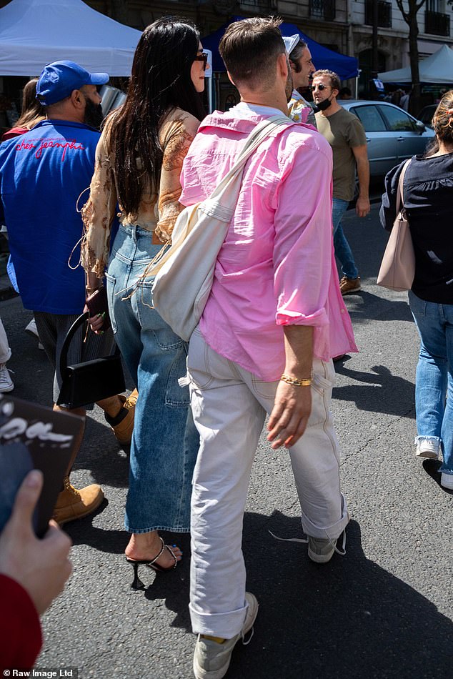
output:
[[[191,496],[190,615],[195,633],[240,632],[246,571],[242,520],[249,477],[278,382],[261,382],[211,350],[198,329],[189,345],[191,408],[201,442]],[[307,535],[336,540],[347,525],[340,492],[339,445],[330,402],[332,361],[314,360],[312,413],[289,450]]]

